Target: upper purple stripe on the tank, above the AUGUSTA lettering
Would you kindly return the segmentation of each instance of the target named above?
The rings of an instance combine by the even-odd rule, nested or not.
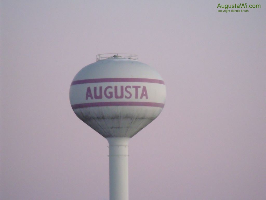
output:
[[[142,83],[159,83],[164,85],[163,80],[151,79],[151,78],[94,78],[94,79],[83,79],[73,81],[71,85],[78,85],[84,83],[111,83],[111,82],[142,82]]]

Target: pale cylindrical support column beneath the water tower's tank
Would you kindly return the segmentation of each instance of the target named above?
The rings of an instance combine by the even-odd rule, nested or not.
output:
[[[106,138],[109,142],[110,200],[128,200],[128,141]]]

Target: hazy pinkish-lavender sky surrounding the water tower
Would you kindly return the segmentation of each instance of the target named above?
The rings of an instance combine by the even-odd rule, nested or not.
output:
[[[130,141],[131,200],[266,199],[265,6],[1,1],[0,199],[109,199],[108,142],[76,117],[69,86],[113,52],[138,54],[167,87]]]

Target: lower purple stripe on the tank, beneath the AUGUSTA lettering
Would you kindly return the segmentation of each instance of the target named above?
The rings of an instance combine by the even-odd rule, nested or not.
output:
[[[164,103],[155,102],[132,102],[132,101],[117,101],[117,102],[95,102],[95,103],[79,103],[71,105],[72,109],[98,107],[98,106],[151,106],[151,107],[164,107]]]

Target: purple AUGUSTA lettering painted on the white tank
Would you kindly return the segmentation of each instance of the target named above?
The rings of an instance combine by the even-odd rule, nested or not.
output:
[[[135,94],[135,95],[133,95]],[[87,87],[86,91],[86,100],[88,99],[102,99],[103,97],[107,99],[115,98],[115,99],[148,99],[148,93],[146,86],[120,86],[120,90],[118,91],[118,86],[107,86],[103,88],[102,86],[99,87]]]

